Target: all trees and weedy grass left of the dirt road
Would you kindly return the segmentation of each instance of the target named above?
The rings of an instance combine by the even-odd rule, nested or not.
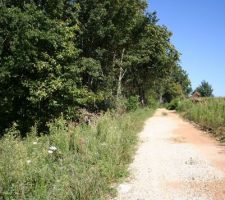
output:
[[[152,113],[139,108],[190,93],[172,32],[147,8],[0,1],[1,199],[105,198]]]

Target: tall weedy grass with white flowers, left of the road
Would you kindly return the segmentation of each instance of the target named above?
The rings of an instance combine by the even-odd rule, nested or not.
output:
[[[92,126],[51,123],[49,136],[0,141],[1,199],[106,199],[127,176],[137,133],[153,110],[107,113]]]

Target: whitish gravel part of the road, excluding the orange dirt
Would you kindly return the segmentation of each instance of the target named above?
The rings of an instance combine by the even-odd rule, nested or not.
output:
[[[132,178],[118,187],[115,200],[213,200],[206,188],[193,185],[222,181],[225,173],[204,159],[194,145],[173,142],[178,127],[162,110],[146,122],[130,166]]]

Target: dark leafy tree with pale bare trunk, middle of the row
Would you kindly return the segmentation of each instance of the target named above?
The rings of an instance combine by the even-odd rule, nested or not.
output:
[[[77,0],[81,9],[79,48],[82,56],[101,63],[104,78],[101,90],[122,95],[122,82],[130,67],[128,51],[134,46],[133,35],[144,19],[143,0]],[[86,75],[88,77],[88,75]],[[116,85],[116,87],[115,87]]]

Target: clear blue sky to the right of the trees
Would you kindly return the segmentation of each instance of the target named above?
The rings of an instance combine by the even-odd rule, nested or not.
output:
[[[159,24],[173,32],[172,43],[181,55],[195,89],[208,81],[215,96],[225,96],[225,0],[149,0]]]

